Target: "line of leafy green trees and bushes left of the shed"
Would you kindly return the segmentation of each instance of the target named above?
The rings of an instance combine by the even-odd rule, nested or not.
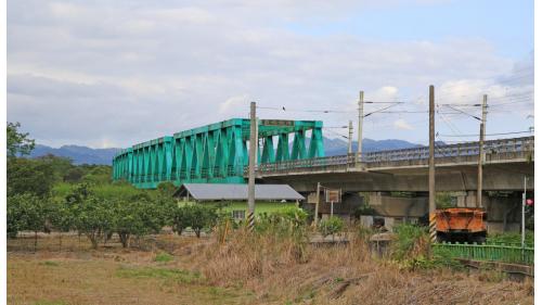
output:
[[[96,249],[118,234],[127,247],[133,238],[158,233],[168,226],[181,233],[192,228],[197,237],[215,225],[216,207],[179,204],[176,187],[137,190],[126,181],[113,182],[111,166],[79,165],[64,157],[25,157],[34,149],[20,124],[8,123],[8,237],[31,231],[76,231]],[[61,244],[62,244],[62,234]]]

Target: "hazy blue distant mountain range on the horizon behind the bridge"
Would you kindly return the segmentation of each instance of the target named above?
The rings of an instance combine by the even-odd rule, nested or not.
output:
[[[308,144],[308,143],[307,143]],[[403,140],[371,140],[363,139],[363,151],[374,152],[374,151],[386,151],[386,150],[399,150],[399,149],[410,149],[418,148],[420,144],[414,144]],[[358,142],[352,143],[352,150],[356,152],[358,149]],[[63,145],[61,148],[51,148],[47,145],[36,144],[36,148],[30,154],[30,157],[43,156],[47,154],[53,154],[56,156],[63,156],[70,158],[74,164],[105,164],[111,165],[113,156],[121,149],[91,149],[88,147],[79,145]],[[348,143],[341,139],[328,139],[324,137],[324,151],[325,155],[341,155],[346,154],[348,151]]]

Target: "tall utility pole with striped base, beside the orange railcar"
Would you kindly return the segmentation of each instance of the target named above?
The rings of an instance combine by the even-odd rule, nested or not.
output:
[[[437,215],[435,211],[435,86],[429,86],[429,234],[437,241]]]

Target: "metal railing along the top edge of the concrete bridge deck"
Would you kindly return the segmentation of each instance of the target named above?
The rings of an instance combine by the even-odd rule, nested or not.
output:
[[[534,137],[512,138],[486,141],[485,151],[491,153],[531,152],[534,151]],[[465,142],[450,145],[436,145],[435,157],[454,157],[477,155],[478,142]],[[362,156],[363,163],[379,163],[391,161],[425,160],[429,156],[429,148],[414,148],[390,151],[367,152]],[[356,163],[356,154],[314,157],[296,161],[264,163],[257,166],[260,173],[280,171],[304,167],[328,167]],[[246,168],[245,168],[246,170]]]

